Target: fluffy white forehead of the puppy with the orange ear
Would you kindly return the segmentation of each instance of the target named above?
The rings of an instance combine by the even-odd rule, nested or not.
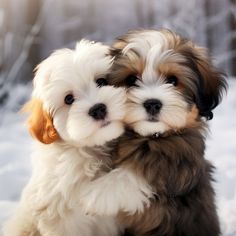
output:
[[[108,46],[86,40],[79,42],[75,50],[58,50],[38,66],[34,85],[43,87],[58,80],[91,82],[108,73],[112,63],[108,53]]]

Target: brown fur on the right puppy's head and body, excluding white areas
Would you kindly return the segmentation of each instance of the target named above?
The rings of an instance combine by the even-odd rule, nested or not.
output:
[[[115,62],[109,82],[124,86],[130,73],[141,78],[142,68],[128,70],[144,63],[138,53],[124,55],[122,49],[132,37],[142,31],[131,31],[118,38],[111,54]],[[120,138],[114,149],[114,166],[130,168],[142,176],[155,192],[151,206],[143,213],[118,216],[125,225],[125,235],[135,236],[218,236],[220,227],[211,186],[213,166],[204,158],[207,124],[201,117],[211,119],[226,82],[210,62],[207,51],[191,41],[167,30],[161,31],[168,49],[183,57],[183,61],[159,64],[157,71],[165,78],[179,79],[176,89],[189,104],[186,126],[172,129],[158,138],[143,137],[132,131]],[[134,65],[136,64],[136,65]]]

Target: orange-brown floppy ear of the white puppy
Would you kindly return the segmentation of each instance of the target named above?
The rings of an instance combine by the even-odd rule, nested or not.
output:
[[[43,103],[40,100],[32,99],[22,109],[30,112],[28,119],[29,131],[31,135],[45,144],[53,143],[59,139],[59,135],[53,126],[52,118],[43,109]]]

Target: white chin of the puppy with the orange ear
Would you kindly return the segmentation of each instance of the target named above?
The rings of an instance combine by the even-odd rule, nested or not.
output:
[[[124,125],[121,121],[112,121],[102,125],[91,136],[78,140],[79,146],[102,146],[105,143],[118,138],[124,132]]]

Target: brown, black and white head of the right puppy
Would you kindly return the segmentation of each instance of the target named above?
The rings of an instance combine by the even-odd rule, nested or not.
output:
[[[211,119],[226,82],[207,50],[167,31],[132,31],[117,39],[109,83],[127,88],[125,121],[141,135]]]

